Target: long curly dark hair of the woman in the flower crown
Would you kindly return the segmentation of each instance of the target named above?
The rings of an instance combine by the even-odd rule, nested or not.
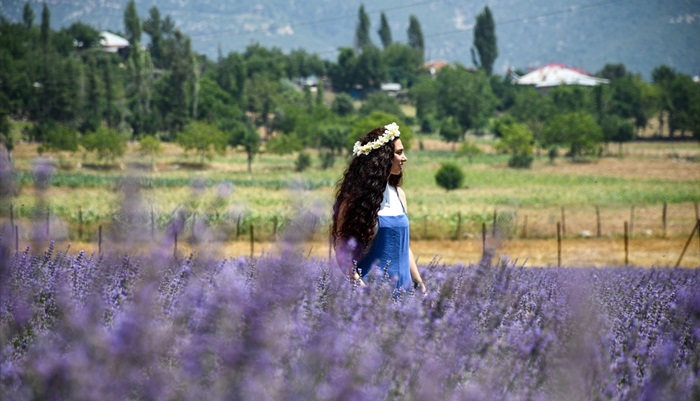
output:
[[[384,127],[373,129],[360,139],[360,143],[364,145],[376,140],[384,130]],[[394,142],[396,139],[367,155],[354,156],[336,185],[331,235],[335,244],[338,239],[357,242],[357,246],[350,249],[354,260],[360,259],[372,241],[387,182],[393,186],[401,184],[402,174],[391,174]],[[344,215],[339,221],[341,208]]]

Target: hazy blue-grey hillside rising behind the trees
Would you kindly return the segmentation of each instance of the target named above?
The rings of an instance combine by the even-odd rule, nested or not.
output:
[[[46,0],[53,28],[81,21],[98,29],[124,30],[128,0]],[[32,0],[37,18],[43,0]],[[427,59],[471,65],[476,15],[491,8],[498,38],[495,73],[509,66],[527,70],[550,62],[591,72],[622,63],[649,78],[662,64],[700,74],[700,2],[697,0],[142,0],[141,18],[157,6],[192,38],[195,51],[216,57],[252,43],[285,51],[304,48],[335,60],[337,49],[352,46],[361,4],[371,18],[373,41],[382,11],[395,41],[406,42],[410,15],[416,15]],[[25,0],[3,0],[0,14],[21,21]],[[147,35],[144,35],[148,40]]]

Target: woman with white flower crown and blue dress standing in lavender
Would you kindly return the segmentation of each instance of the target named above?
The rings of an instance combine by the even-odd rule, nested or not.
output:
[[[409,245],[406,195],[401,184],[406,154],[398,125],[375,128],[355,143],[338,182],[331,234],[344,273],[364,285],[373,267],[387,269],[396,288],[425,293]]]

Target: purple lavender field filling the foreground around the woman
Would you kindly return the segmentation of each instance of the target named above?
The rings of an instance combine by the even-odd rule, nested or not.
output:
[[[697,400],[700,270],[420,269],[429,294],[259,258],[3,240],[6,400]]]

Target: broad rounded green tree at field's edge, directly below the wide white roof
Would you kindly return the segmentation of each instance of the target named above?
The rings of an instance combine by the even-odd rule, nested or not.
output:
[[[603,139],[595,118],[586,112],[556,115],[544,127],[544,145],[566,146],[572,159],[600,155]]]

